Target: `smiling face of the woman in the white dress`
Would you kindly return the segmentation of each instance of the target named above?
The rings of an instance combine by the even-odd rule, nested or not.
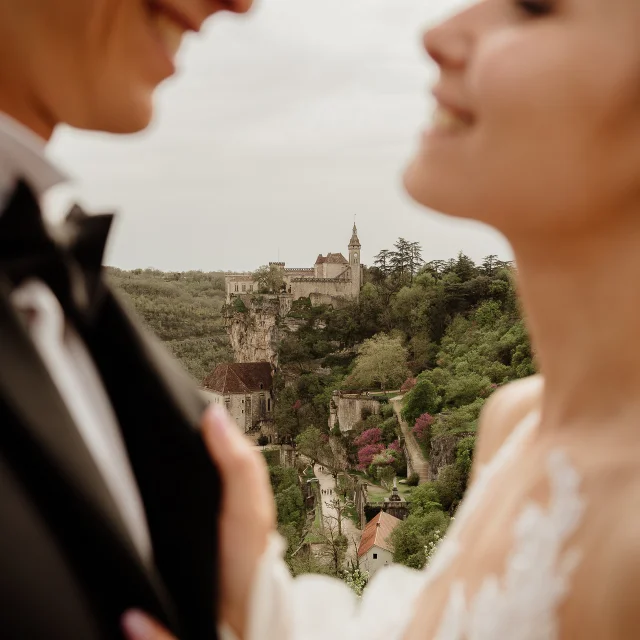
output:
[[[439,106],[405,174],[415,200],[512,240],[638,214],[638,0],[485,0],[425,47]]]

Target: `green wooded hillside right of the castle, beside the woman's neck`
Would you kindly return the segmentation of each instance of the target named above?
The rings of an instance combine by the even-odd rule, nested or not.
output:
[[[416,243],[399,239],[365,268],[360,299],[339,309],[294,303],[301,325],[283,333],[277,376],[282,442],[342,478],[390,487],[406,474],[389,397],[402,388],[401,415],[433,480],[402,481],[410,515],[394,532],[396,562],[420,568],[467,486],[480,410],[501,385],[535,372],[511,265],[464,254],[424,264]],[[329,421],[333,390],[362,391],[383,403],[341,433]],[[343,455],[341,455],[343,454]],[[346,459],[346,464],[345,464]],[[340,475],[342,474],[342,475]]]

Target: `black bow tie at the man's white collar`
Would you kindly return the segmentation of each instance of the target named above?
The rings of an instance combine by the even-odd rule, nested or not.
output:
[[[32,190],[20,181],[0,214],[0,273],[14,286],[30,278],[44,281],[71,320],[90,322],[103,293],[102,258],[112,220],[76,205],[54,237]]]

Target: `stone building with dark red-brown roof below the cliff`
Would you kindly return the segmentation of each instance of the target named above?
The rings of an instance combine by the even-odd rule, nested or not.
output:
[[[203,387],[207,399],[225,406],[244,433],[273,421],[273,370],[268,362],[218,365]]]

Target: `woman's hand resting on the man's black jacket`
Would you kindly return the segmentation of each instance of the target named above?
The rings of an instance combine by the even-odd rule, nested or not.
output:
[[[202,434],[222,476],[220,616],[242,639],[258,562],[276,526],[273,493],[262,454],[224,409],[207,409]],[[123,627],[131,640],[174,640],[137,611],[123,616]]]

